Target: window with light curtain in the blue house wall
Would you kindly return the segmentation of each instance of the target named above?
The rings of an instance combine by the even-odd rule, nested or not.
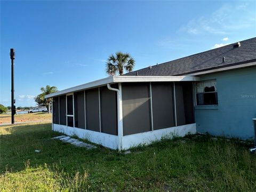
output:
[[[216,79],[196,83],[197,105],[218,105]]]

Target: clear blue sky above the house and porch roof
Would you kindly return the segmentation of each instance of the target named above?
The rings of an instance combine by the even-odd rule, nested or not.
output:
[[[129,52],[135,69],[256,36],[253,1],[1,1],[1,98],[35,106],[40,87],[105,78],[105,60]]]

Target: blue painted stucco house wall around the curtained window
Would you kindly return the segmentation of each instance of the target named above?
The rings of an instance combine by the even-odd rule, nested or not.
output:
[[[217,80],[218,106],[195,106],[197,132],[243,140],[254,137],[256,67],[200,76]]]

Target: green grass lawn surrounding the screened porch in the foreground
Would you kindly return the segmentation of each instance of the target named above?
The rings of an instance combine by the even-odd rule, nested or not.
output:
[[[0,126],[0,191],[255,191],[256,154],[235,140],[163,139],[124,155],[51,139],[51,124]],[[35,153],[35,150],[41,150]]]

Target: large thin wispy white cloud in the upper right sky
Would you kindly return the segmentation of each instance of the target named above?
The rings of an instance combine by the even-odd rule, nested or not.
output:
[[[255,26],[255,13],[248,9],[247,3],[223,4],[218,10],[206,17],[190,20],[179,31],[189,34],[231,34],[239,29]],[[223,40],[225,41],[225,40]]]

